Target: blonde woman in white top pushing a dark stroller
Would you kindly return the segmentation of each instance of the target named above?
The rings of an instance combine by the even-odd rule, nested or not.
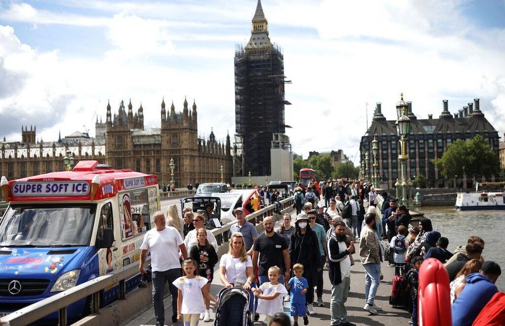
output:
[[[225,288],[241,286],[249,291],[249,310],[252,311],[254,305],[254,296],[250,291],[251,286],[255,287],[254,273],[252,271],[252,260],[245,251],[245,243],[240,232],[231,235],[228,253],[221,256],[219,262],[219,278]]]

